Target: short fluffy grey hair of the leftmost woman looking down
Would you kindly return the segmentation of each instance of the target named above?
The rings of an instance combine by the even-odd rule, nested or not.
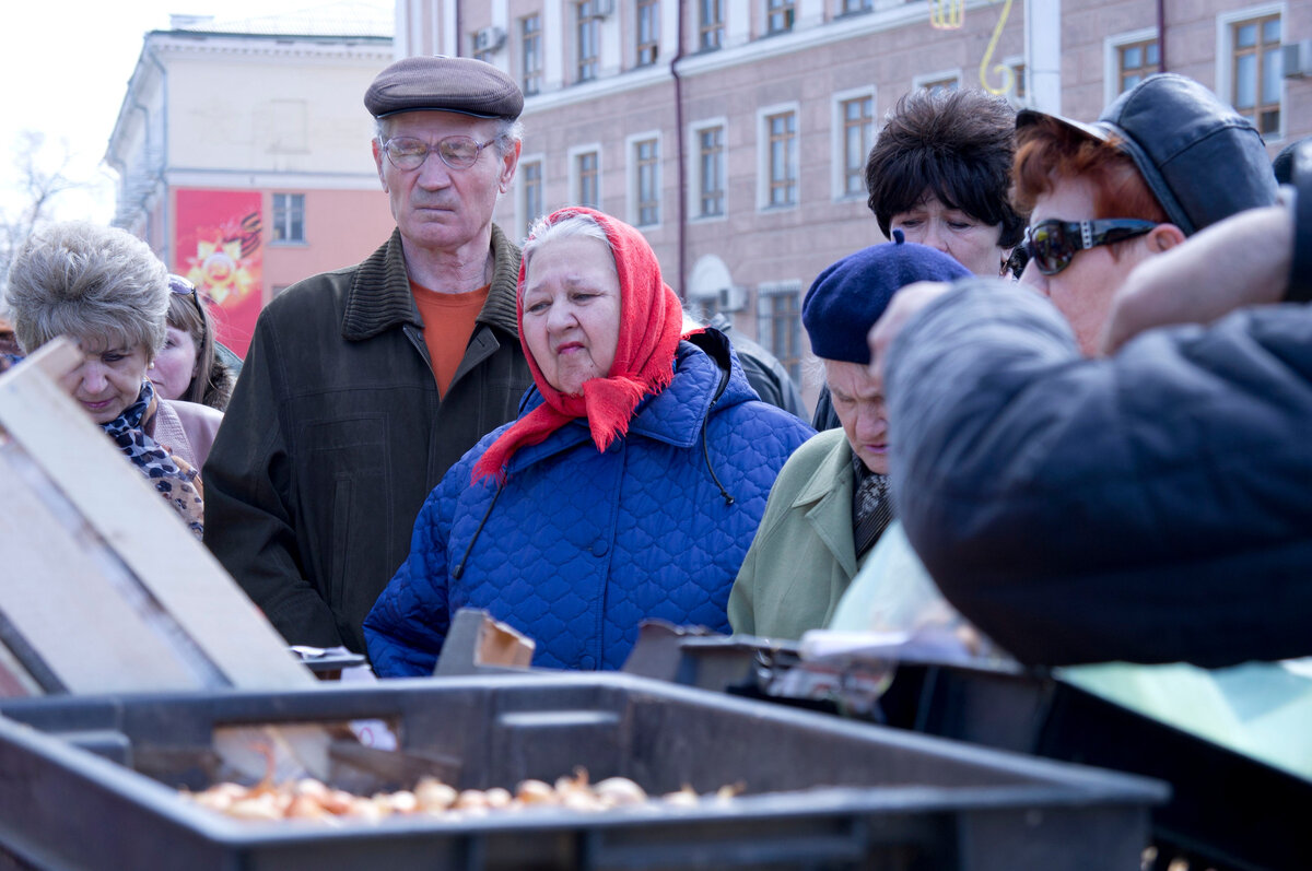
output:
[[[55,336],[164,348],[168,268],[127,231],[84,220],[34,231],[9,266],[5,302],[28,354]]]

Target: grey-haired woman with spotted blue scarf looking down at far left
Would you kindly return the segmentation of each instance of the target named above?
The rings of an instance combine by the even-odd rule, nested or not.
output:
[[[168,269],[146,243],[68,222],[22,244],[5,302],[25,353],[56,336],[77,342],[83,362],[60,384],[199,537],[199,470],[223,415],[161,399],[147,378],[164,348],[172,295]]]

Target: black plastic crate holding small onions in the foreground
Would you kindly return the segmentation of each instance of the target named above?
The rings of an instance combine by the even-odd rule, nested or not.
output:
[[[623,674],[24,699],[0,714],[0,845],[52,868],[1105,871],[1139,867],[1148,809],[1168,794],[1141,778]],[[350,719],[387,720],[404,752],[458,761],[461,788],[513,788],[581,765],[651,794],[745,791],[686,809],[332,828],[243,822],[174,792],[205,786],[197,760],[216,728]]]

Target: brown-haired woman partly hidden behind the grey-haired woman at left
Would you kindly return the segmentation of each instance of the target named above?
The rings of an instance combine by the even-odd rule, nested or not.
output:
[[[184,399],[218,411],[228,407],[236,373],[218,353],[214,321],[195,286],[168,277],[168,338],[151,366],[151,383],[163,399]]]

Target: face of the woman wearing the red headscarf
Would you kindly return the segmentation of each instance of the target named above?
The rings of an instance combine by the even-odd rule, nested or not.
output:
[[[619,278],[606,243],[567,236],[533,252],[523,275],[523,341],[562,394],[581,394],[585,380],[610,374]]]

